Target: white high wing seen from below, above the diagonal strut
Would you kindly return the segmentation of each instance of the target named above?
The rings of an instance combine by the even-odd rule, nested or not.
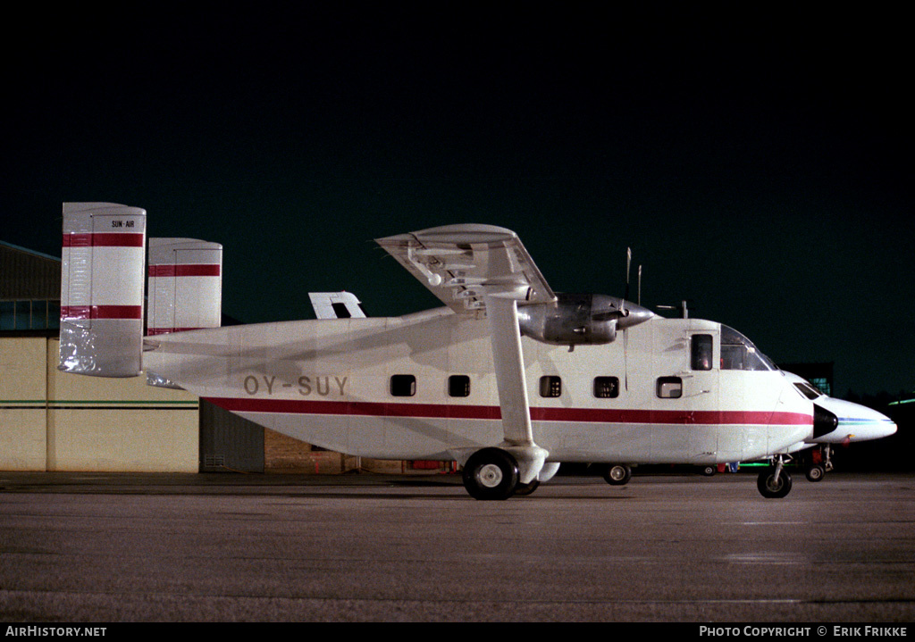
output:
[[[518,235],[505,228],[446,225],[376,242],[458,314],[485,309],[496,291],[516,293],[521,305],[556,300]]]

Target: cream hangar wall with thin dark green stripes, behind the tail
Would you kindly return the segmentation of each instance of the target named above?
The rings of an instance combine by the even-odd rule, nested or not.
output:
[[[199,471],[199,401],[59,372],[59,341],[0,339],[0,470]]]

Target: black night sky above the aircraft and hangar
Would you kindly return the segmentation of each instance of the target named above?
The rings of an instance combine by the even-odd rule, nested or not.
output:
[[[437,305],[371,240],[489,223],[556,291],[623,294],[631,247],[642,305],[915,390],[901,5],[274,6],[7,16],[0,240],[59,256],[61,202],[142,207],[224,245],[255,323]]]

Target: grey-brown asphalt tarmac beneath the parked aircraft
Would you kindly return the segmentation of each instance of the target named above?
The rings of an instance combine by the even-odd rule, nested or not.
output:
[[[459,476],[0,473],[0,620],[911,623],[913,499],[915,475],[482,502]]]

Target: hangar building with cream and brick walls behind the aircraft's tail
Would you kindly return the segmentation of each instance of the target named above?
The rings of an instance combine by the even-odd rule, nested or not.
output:
[[[59,372],[60,259],[0,241],[0,470],[404,472],[323,451],[142,377]],[[437,464],[436,464],[437,465]]]

